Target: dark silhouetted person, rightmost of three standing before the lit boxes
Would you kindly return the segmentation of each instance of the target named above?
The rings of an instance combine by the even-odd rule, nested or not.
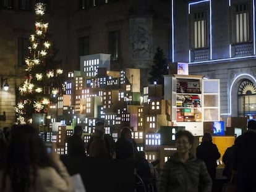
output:
[[[116,159],[132,159],[138,152],[137,143],[132,138],[132,131],[128,127],[121,130],[121,136],[116,141]]]

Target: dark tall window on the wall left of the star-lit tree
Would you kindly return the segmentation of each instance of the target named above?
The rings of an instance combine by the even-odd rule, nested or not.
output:
[[[18,65],[25,65],[25,57],[28,56],[28,38],[18,38]]]

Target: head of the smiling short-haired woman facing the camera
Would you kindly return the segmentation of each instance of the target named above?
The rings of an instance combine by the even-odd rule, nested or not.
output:
[[[177,152],[188,153],[193,146],[194,136],[187,130],[177,131],[176,136],[176,148]]]

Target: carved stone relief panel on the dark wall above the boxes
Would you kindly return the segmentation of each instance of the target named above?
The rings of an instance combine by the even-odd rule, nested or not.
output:
[[[151,20],[131,19],[131,41],[133,59],[150,59],[151,56]]]

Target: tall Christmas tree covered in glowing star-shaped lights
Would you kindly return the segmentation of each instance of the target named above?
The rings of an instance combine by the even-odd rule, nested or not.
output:
[[[62,90],[62,73],[58,62],[53,61],[54,48],[49,41],[48,22],[45,22],[46,4],[35,4],[35,34],[30,35],[25,80],[19,86],[17,105],[18,124],[32,123],[35,113],[47,114],[51,102],[56,102]]]

